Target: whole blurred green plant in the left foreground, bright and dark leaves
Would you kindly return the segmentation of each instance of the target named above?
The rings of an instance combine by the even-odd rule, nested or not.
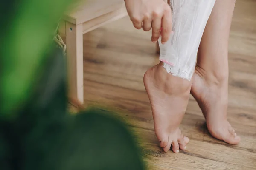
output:
[[[66,59],[52,37],[69,5],[0,6],[0,169],[142,170],[132,134],[111,111],[67,111]]]

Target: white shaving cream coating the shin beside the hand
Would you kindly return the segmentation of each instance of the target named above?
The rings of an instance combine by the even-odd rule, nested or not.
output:
[[[166,44],[159,43],[160,60],[168,73],[191,80],[198,47],[214,4],[215,0],[171,0],[173,33]]]

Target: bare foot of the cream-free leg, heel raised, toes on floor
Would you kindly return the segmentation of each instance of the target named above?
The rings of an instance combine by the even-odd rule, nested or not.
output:
[[[212,136],[229,144],[237,144],[240,137],[227,121],[228,74],[213,77],[213,74],[196,66],[191,94],[198,102]]]

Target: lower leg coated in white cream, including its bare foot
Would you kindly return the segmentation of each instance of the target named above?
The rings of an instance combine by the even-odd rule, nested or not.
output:
[[[179,129],[186,111],[198,46],[215,0],[172,0],[172,38],[160,44],[160,64],[148,69],[144,85],[160,146],[177,153],[189,141]],[[171,65],[169,65],[171,63]],[[171,73],[171,74],[169,74]]]

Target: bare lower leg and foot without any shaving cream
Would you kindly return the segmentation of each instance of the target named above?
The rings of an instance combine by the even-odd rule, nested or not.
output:
[[[234,5],[235,0],[216,0],[199,46],[191,89],[209,132],[230,144],[240,141],[227,122],[228,38]]]

